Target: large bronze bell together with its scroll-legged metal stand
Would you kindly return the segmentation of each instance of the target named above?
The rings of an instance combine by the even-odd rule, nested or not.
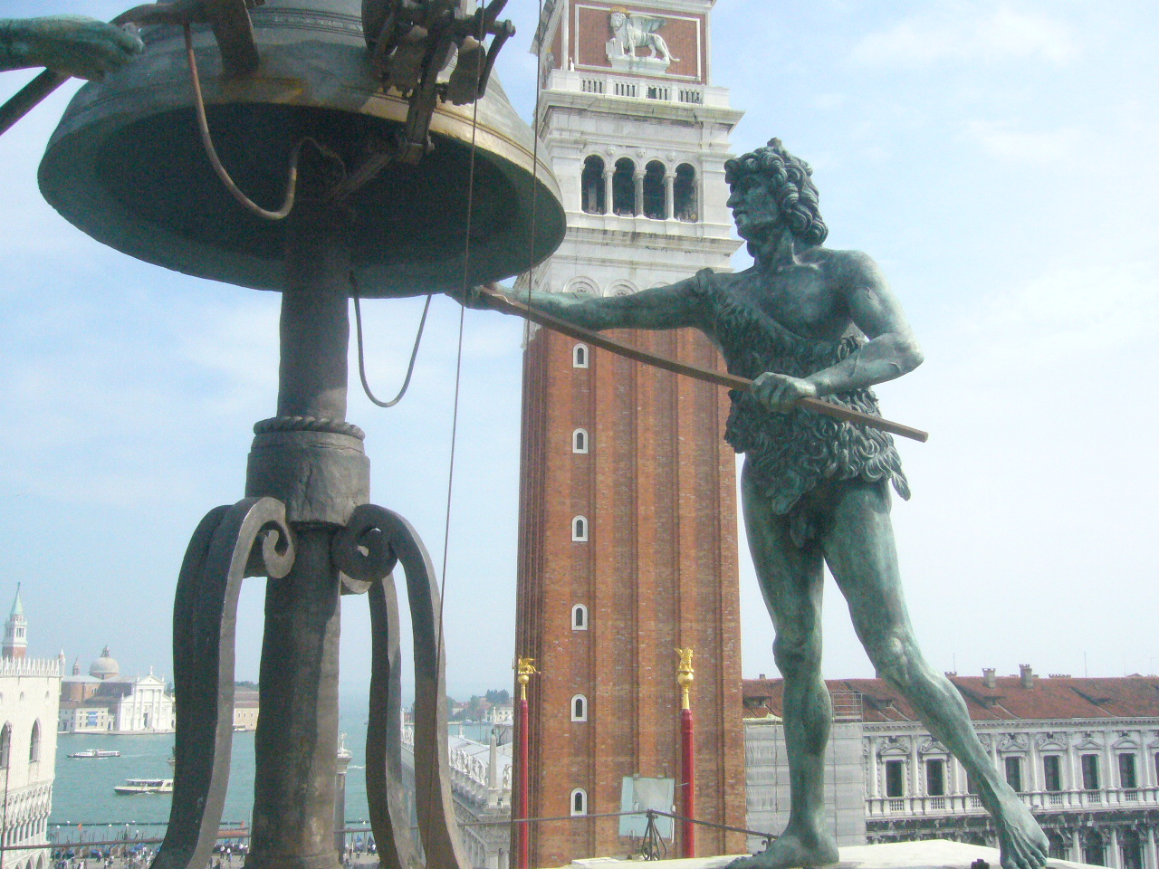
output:
[[[415,530],[369,503],[364,434],[345,421],[348,305],[352,292],[402,295],[511,276],[562,240],[563,209],[534,161],[532,132],[498,83],[487,86],[512,32],[495,20],[502,3],[140,7],[131,13],[147,24],[144,54],[78,92],[41,163],[45,198],[99,241],[189,275],[282,291],[277,412],[254,426],[246,498],[206,514],[177,580],[176,779],[153,869],[203,869],[211,857],[229,774],[238,593],[252,576],[268,582],[247,869],[340,867],[342,594],[363,594],[371,608],[366,793],[381,863],[468,864],[450,787],[438,584]],[[364,20],[377,35],[364,36]],[[217,170],[195,121],[188,52]],[[476,72],[464,73],[466,63]],[[285,219],[261,216],[283,211],[294,154],[297,204]],[[401,793],[396,567],[414,629],[423,857]]]

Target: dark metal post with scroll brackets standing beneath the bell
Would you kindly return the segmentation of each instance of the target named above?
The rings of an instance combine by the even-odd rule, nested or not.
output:
[[[194,534],[174,601],[175,782],[153,869],[203,869],[229,774],[233,653],[245,576],[267,576],[261,715],[247,869],[338,869],[340,596],[366,593],[374,631],[366,790],[385,867],[421,866],[401,812],[401,667],[392,570],[415,634],[415,768],[427,864],[461,869],[446,754],[438,585],[404,519],[367,503],[363,432],[345,422],[350,262],[337,216],[290,227],[278,415],[254,426],[247,498]]]

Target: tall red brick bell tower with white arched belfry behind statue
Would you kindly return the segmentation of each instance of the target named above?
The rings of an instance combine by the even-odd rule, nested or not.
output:
[[[568,233],[526,289],[622,295],[729,269],[724,160],[741,118],[709,85],[715,0],[546,0],[539,148]],[[699,333],[621,341],[722,367]],[[680,781],[678,648],[694,651],[697,817],[743,826],[736,472],[715,386],[530,328],[516,651],[530,700],[532,867],[628,853],[633,776]],[[625,779],[629,780],[626,786]],[[681,795],[676,787],[679,811]],[[669,854],[681,852],[680,833]],[[743,850],[700,827],[699,854]]]

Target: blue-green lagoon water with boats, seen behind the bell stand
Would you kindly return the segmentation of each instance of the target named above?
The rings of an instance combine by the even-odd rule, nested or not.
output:
[[[345,745],[353,755],[347,771],[347,824],[362,826],[367,823],[366,810],[366,701],[343,698],[340,728],[347,735]],[[452,723],[450,732],[459,733]],[[490,726],[464,724],[462,736],[487,742]],[[112,748],[119,758],[70,758],[82,748]],[[160,837],[169,819],[172,797],[168,794],[117,796],[112,788],[125,779],[169,779],[173,769],[167,762],[173,754],[173,735],[160,736],[95,736],[61,733],[57,737],[57,780],[52,789],[50,833],[58,840],[102,840],[122,837]],[[254,735],[233,735],[233,762],[229,769],[229,789],[226,795],[224,826],[245,824],[249,827],[254,802]],[[78,830],[80,825],[80,830]]]

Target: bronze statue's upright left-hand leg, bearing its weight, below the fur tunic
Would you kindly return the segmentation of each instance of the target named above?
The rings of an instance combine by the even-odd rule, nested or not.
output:
[[[773,619],[773,655],[785,678],[785,748],[789,821],[767,850],[735,861],[739,869],[819,867],[838,861],[825,819],[825,746],[833,710],[821,678],[821,548],[796,546],[788,521],[774,513],[748,474],[741,477],[745,531],[760,591]]]

